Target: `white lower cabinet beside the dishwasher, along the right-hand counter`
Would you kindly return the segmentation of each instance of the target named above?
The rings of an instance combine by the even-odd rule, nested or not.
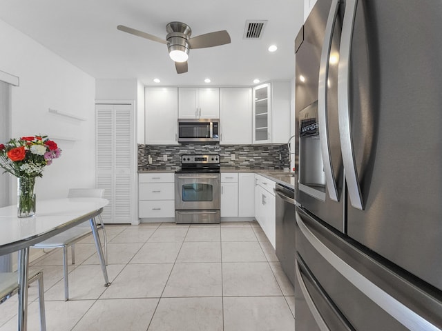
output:
[[[265,232],[273,248],[276,246],[276,183],[255,175],[255,218]]]

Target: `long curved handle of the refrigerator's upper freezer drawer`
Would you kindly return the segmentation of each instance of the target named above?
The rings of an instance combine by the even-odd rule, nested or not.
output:
[[[300,231],[309,241],[309,243],[323,256],[340,274],[358,288],[365,296],[374,301],[376,305],[381,307],[387,314],[396,319],[399,323],[404,325],[409,330],[413,331],[440,331],[435,325],[416,314],[413,310],[403,305],[400,301],[396,300],[390,294],[379,288],[376,284],[369,281],[361,273],[357,272],[350,265],[345,263],[343,259],[340,259],[338,255],[334,254],[332,250],[316,237],[313,232],[309,230],[307,225],[302,221],[300,217],[300,211],[296,208],[296,223],[300,228]],[[309,217],[305,214],[305,217]]]

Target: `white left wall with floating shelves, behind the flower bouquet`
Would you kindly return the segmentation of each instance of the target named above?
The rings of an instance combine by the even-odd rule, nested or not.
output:
[[[12,137],[48,134],[63,150],[37,179],[37,201],[66,197],[68,188],[92,188],[95,79],[1,20],[0,44],[0,70],[20,78],[20,86],[12,88]],[[86,121],[51,114],[48,108]]]

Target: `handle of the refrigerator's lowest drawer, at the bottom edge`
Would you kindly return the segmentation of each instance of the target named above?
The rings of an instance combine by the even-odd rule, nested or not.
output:
[[[345,319],[343,319],[342,314],[340,312],[338,312],[334,303],[332,302],[332,300],[329,299],[329,297],[327,297],[327,294],[325,294],[324,290],[322,288],[320,288],[320,286],[318,286],[316,280],[311,275],[311,272],[310,272],[310,270],[308,270],[305,263],[301,259],[298,260],[298,258],[297,258],[295,260],[295,265],[296,265],[296,267],[295,267],[296,279],[298,279],[299,288],[302,292],[302,295],[304,296],[305,302],[309,306],[310,312],[313,315],[313,317],[316,321],[316,324],[318,324],[318,328],[320,329],[320,331],[331,331],[331,330],[329,329],[329,327],[327,326],[327,323],[325,323],[323,317],[321,316],[318,308],[316,307],[316,304],[314,303],[314,300],[311,298],[309,290],[307,289],[307,285],[305,285],[305,281],[304,281],[304,279],[302,279],[300,265],[302,265],[302,267],[304,267],[304,269],[306,270],[306,272],[305,272],[306,277],[309,277],[310,281],[313,283],[313,285],[315,286],[315,288],[318,291],[318,293],[320,294],[320,296],[323,298],[323,300],[325,302],[327,302],[329,308],[334,312],[334,314],[336,315],[336,317],[338,318],[338,320],[342,324],[341,326],[343,326],[345,328],[345,331],[354,330],[354,328],[349,326],[349,322],[346,321]]]

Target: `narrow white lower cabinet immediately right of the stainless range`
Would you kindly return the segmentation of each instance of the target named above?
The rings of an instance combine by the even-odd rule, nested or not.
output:
[[[238,217],[238,174],[221,174],[221,217]]]

